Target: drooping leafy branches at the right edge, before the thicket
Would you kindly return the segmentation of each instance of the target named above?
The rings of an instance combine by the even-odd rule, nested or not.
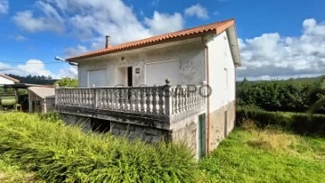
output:
[[[309,110],[309,114],[315,114],[322,106],[325,105],[325,76],[320,78],[320,81],[317,82],[309,92],[309,96],[317,96],[318,99],[315,103],[313,103]]]

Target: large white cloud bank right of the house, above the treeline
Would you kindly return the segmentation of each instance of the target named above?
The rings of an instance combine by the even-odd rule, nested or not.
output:
[[[238,42],[243,62],[239,78],[296,78],[325,73],[325,24],[314,19],[303,21],[298,37],[274,32]]]

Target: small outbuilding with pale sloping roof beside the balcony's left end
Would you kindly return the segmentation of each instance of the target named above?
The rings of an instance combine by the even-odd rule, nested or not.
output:
[[[30,113],[51,113],[55,109],[54,87],[28,87]]]

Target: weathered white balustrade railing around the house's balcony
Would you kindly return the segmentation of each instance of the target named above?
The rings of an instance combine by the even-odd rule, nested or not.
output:
[[[166,81],[167,82],[167,81]],[[55,89],[57,107],[77,107],[139,114],[181,114],[205,104],[201,86],[88,87]]]

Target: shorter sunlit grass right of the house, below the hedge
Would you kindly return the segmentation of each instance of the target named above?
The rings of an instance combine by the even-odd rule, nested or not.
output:
[[[200,160],[200,169],[207,182],[323,182],[325,139],[248,122]]]

